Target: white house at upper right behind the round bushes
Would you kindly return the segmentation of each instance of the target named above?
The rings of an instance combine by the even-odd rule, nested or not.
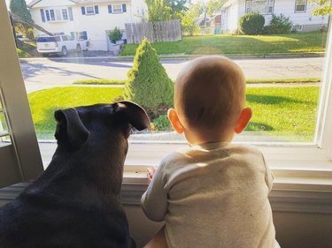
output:
[[[268,25],[272,15],[290,17],[297,31],[318,31],[328,26],[328,15],[313,16],[313,6],[307,0],[228,0],[221,7],[221,32],[232,33],[238,29],[239,19],[254,11],[263,15]]]

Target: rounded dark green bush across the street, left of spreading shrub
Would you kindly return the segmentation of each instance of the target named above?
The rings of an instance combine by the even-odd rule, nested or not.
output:
[[[261,34],[265,18],[259,13],[249,12],[239,19],[240,31],[243,34]]]

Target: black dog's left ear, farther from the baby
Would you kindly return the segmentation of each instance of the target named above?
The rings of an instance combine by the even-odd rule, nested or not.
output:
[[[87,143],[90,132],[82,124],[76,109],[57,110],[54,117],[58,122],[54,135],[58,141],[69,139],[74,148],[80,148]]]

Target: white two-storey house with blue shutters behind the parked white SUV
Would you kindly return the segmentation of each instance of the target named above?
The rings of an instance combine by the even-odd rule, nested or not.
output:
[[[142,22],[148,13],[144,0],[34,0],[28,7],[35,24],[89,41],[90,50],[110,50],[110,31],[118,27],[126,39],[125,23]]]

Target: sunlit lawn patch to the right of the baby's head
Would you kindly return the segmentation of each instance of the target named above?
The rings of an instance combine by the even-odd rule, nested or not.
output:
[[[253,116],[246,131],[266,132],[283,141],[312,141],[320,87],[247,88]]]

